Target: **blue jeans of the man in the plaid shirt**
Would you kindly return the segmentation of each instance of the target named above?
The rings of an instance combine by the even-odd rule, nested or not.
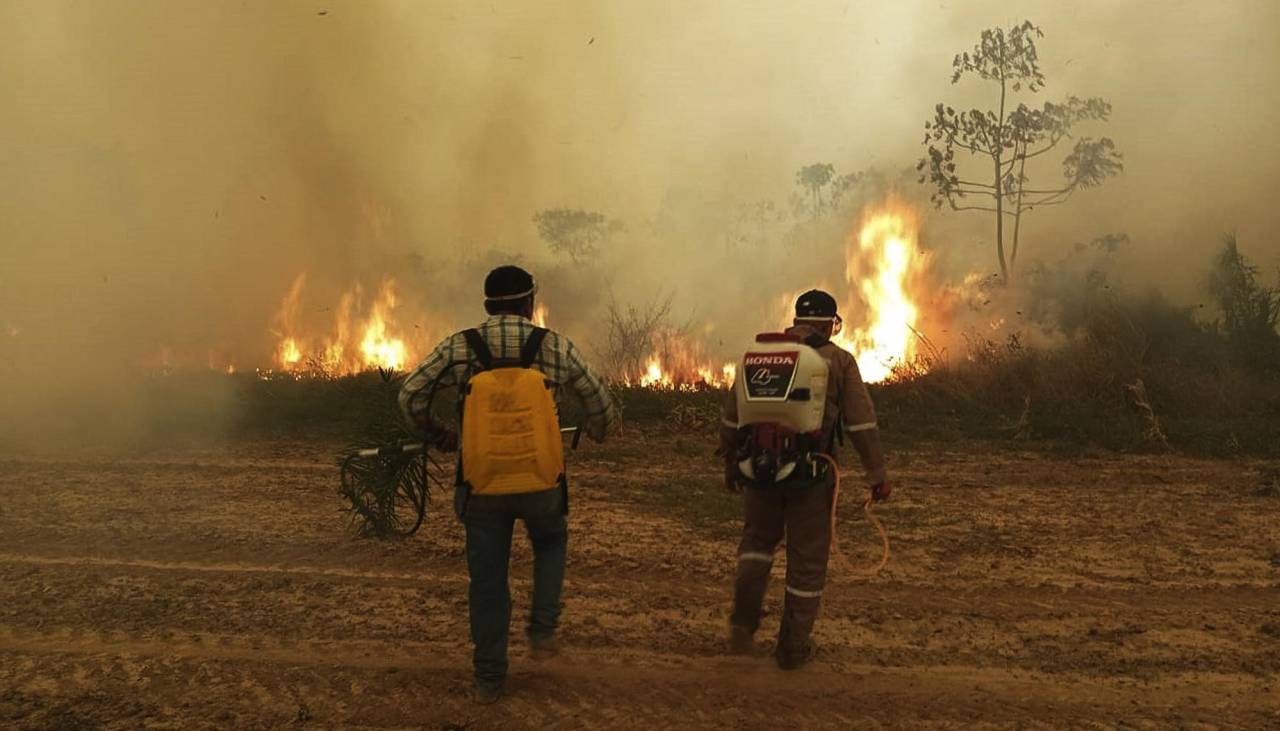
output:
[[[534,547],[534,600],[527,632],[549,639],[559,623],[568,527],[561,488],[517,495],[470,495],[458,488],[456,507],[467,534],[471,643],[476,682],[500,685],[507,676],[507,631],[511,625],[511,535],[516,518],[525,521]]]

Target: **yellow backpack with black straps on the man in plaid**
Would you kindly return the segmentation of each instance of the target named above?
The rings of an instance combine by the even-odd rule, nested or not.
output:
[[[552,383],[531,367],[547,330],[534,328],[520,360],[494,360],[479,330],[463,335],[480,369],[462,387],[460,481],[477,495],[563,486],[564,446]]]

